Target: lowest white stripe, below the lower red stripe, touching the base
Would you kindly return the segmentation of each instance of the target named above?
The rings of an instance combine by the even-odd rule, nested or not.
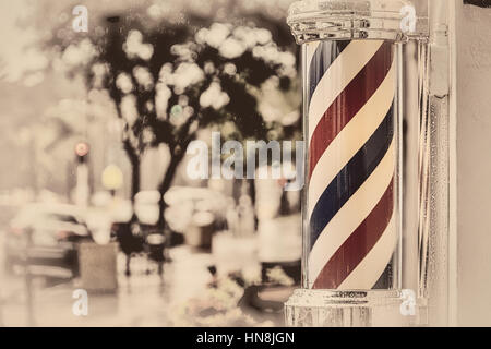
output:
[[[369,254],[339,285],[339,290],[370,290],[375,286],[394,254],[397,243],[395,213],[382,237]]]

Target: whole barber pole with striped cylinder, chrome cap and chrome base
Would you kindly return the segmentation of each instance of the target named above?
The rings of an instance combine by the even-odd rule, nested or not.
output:
[[[427,260],[439,254],[438,243],[431,253],[428,245],[440,218],[430,205],[448,202],[434,191],[447,188],[448,177],[432,182],[445,168],[433,158],[447,140],[440,136],[448,118],[439,112],[448,101],[434,106],[428,94],[428,19],[423,2],[407,0],[302,0],[289,8],[301,46],[307,144],[302,288],[285,303],[289,326],[428,323]],[[424,159],[428,176],[420,176]],[[434,241],[444,240],[443,229]]]

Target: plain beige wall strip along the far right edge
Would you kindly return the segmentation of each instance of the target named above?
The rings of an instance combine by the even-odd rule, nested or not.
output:
[[[457,1],[458,325],[491,325],[491,9]]]

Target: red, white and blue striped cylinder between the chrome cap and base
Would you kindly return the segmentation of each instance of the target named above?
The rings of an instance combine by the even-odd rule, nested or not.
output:
[[[397,244],[394,57],[384,40],[306,45],[311,289],[390,288]]]

